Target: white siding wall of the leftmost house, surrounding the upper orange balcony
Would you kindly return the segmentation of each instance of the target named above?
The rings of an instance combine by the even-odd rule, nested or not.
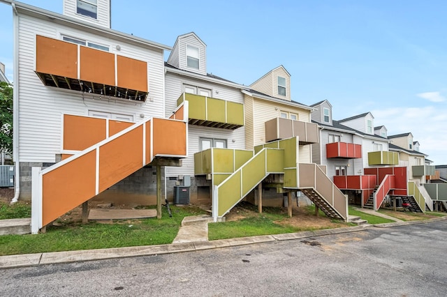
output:
[[[20,162],[54,162],[61,150],[61,114],[87,115],[89,110],[133,114],[136,121],[140,114],[163,116],[163,52],[136,47],[122,40],[96,36],[82,29],[64,27],[60,24],[21,16],[19,21],[19,118]],[[36,34],[60,39],[60,34],[81,36],[107,45],[119,44],[120,54],[147,61],[149,97],[147,102],[128,102],[115,98],[99,98],[91,94],[44,86],[34,73]],[[113,52],[115,47],[110,47]]]

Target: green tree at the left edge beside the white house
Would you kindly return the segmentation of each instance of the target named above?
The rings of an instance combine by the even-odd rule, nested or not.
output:
[[[0,82],[0,151],[13,153],[13,86]]]

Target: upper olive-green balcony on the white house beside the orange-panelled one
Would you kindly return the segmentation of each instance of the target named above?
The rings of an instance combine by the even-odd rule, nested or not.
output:
[[[177,105],[189,102],[189,123],[235,130],[244,125],[244,105],[206,96],[182,93]]]

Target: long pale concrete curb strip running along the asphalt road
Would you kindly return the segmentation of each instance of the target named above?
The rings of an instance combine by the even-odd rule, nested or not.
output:
[[[410,222],[394,222],[357,227],[344,227],[337,229],[323,229],[316,231],[303,231],[298,233],[251,236],[243,238],[221,239],[218,241],[197,241],[192,243],[172,243],[167,245],[147,245],[129,248],[108,248],[101,250],[77,250],[71,252],[43,252],[36,254],[17,254],[0,257],[0,268],[17,268],[27,266],[39,266],[45,264],[62,264],[78,261],[94,261],[102,259],[150,256],[155,254],[171,254],[174,252],[191,252],[196,250],[210,250],[214,248],[226,248],[236,245],[249,245],[254,243],[266,243],[272,241],[288,241],[293,239],[325,236],[331,234],[342,234],[362,231],[374,227],[396,227],[409,224],[425,224],[446,220],[447,216],[430,220],[419,220]]]

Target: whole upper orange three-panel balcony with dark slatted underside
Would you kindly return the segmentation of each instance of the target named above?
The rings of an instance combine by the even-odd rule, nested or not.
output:
[[[126,100],[147,98],[147,63],[36,36],[36,74],[45,86]]]

